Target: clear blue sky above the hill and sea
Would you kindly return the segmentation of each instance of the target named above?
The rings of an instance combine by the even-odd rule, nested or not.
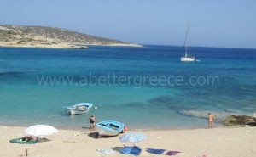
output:
[[[125,42],[256,48],[255,0],[1,0],[0,24],[44,25]]]

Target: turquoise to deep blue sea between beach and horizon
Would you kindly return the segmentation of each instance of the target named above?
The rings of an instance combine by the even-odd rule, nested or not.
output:
[[[57,128],[120,121],[131,129],[215,126],[227,115],[256,112],[256,49],[90,46],[0,48],[0,125]],[[87,114],[67,107],[92,103]]]

